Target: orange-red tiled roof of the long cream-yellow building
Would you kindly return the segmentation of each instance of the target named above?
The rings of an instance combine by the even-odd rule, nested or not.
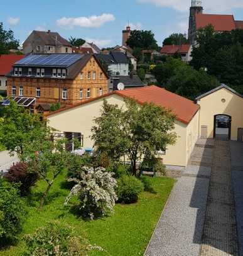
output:
[[[154,103],[163,108],[171,109],[176,115],[176,119],[188,124],[197,113],[199,106],[193,101],[181,97],[173,92],[158,86],[146,86],[135,89],[114,92],[123,97],[130,97],[138,101],[139,104]]]

